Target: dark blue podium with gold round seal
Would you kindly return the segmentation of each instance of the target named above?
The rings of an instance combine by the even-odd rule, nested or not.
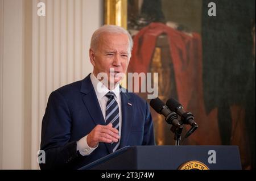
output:
[[[81,169],[242,169],[238,146],[127,146]]]

